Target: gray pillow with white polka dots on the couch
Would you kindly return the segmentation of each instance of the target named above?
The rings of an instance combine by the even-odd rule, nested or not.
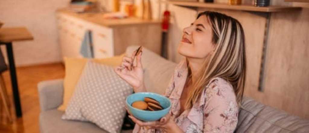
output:
[[[125,99],[133,92],[112,67],[88,61],[62,119],[90,121],[110,133],[119,133],[125,117]]]

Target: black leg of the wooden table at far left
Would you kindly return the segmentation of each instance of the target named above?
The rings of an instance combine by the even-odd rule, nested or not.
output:
[[[14,103],[15,103],[15,112],[16,112],[17,118],[19,118],[19,117],[22,117],[22,111],[21,111],[21,105],[20,105],[20,100],[19,100],[19,91],[18,91],[12,42],[6,43],[5,45],[6,45],[7,56],[9,58],[12,91],[13,91]]]

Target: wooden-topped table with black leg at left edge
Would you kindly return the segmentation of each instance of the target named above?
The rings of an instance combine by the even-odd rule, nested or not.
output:
[[[22,117],[22,110],[19,100],[19,91],[17,85],[12,42],[26,41],[26,40],[33,40],[33,36],[30,34],[30,32],[28,32],[27,28],[24,27],[0,28],[0,45],[2,44],[6,45],[6,52],[9,59],[11,83],[15,103],[15,113],[17,118]]]

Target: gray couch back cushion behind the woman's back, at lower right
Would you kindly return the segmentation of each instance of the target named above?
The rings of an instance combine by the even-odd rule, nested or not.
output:
[[[309,120],[292,116],[244,97],[235,132],[304,133],[309,131]]]

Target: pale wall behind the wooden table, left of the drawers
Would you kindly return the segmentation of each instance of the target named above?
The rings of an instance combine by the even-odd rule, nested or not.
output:
[[[65,7],[69,0],[1,0],[0,20],[3,27],[25,26],[34,36],[33,41],[13,42],[16,66],[60,62],[57,41],[57,8]],[[6,56],[5,46],[1,46]]]

